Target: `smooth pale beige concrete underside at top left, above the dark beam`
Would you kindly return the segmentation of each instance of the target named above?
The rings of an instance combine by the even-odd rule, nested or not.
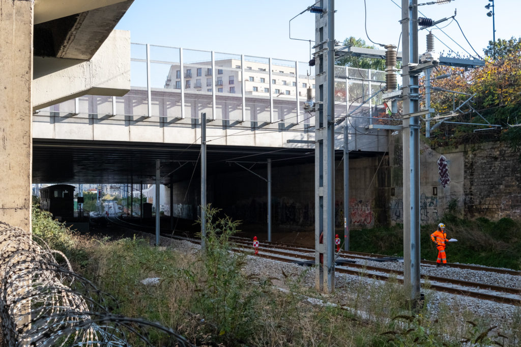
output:
[[[34,24],[76,15],[127,0],[34,0]]]

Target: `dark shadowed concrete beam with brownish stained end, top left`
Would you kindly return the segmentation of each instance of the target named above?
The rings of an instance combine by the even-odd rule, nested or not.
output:
[[[34,55],[90,60],[116,27],[134,0],[87,1],[88,11],[46,21],[34,26]],[[47,0],[53,3],[56,0]],[[61,3],[61,2],[60,2]],[[72,1],[77,3],[77,1]],[[65,6],[67,7],[67,6]]]

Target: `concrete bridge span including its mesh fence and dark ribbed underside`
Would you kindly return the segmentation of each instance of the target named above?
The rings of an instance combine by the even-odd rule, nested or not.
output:
[[[165,49],[179,59],[168,60]],[[186,177],[192,170],[180,165],[197,161],[202,113],[208,160],[219,171],[234,158],[313,163],[314,108],[306,108],[304,85],[312,86],[314,77],[298,73],[303,63],[139,44],[131,52],[137,86],[125,96],[85,95],[34,111],[34,183],[116,183],[129,176],[152,183],[155,159],[163,160],[162,175],[175,170],[178,179]],[[339,158],[344,126],[353,156],[386,152],[388,130],[373,127],[392,121],[382,119],[384,107],[369,98],[383,83],[377,80],[382,71],[337,67],[336,75],[335,116],[351,113],[336,131]],[[259,92],[263,88],[273,91]],[[279,90],[288,94],[274,94]]]

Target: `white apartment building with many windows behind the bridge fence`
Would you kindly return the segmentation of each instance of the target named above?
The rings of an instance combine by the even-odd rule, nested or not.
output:
[[[212,71],[211,61],[203,61],[183,64],[181,72],[181,65],[174,64],[170,66],[164,88],[181,89],[183,86],[185,92],[209,94],[215,88],[216,93],[242,95],[244,82],[245,95],[269,97],[271,93],[274,98],[293,100],[298,95],[305,101],[309,87],[312,88],[312,95],[314,94],[314,79],[297,76],[295,65],[271,64],[271,73],[269,66],[267,63],[244,61],[243,69],[240,59],[222,59],[215,60],[215,71]]]

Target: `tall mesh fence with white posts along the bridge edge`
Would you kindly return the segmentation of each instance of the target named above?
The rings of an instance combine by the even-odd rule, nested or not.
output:
[[[301,138],[314,132],[315,69],[308,63],[134,43],[131,68],[127,95],[85,95],[40,109],[35,126],[186,127],[204,112],[210,127],[308,133]],[[370,129],[396,122],[378,93],[385,71],[337,66],[335,77],[335,116],[351,113],[344,122],[350,149],[386,151],[387,131]],[[337,132],[340,147],[342,126]]]

